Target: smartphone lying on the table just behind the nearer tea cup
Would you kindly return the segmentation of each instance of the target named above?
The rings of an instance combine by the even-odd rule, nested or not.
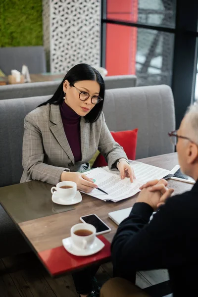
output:
[[[96,228],[96,234],[104,234],[111,231],[109,228],[95,213],[88,214],[80,217],[83,223],[91,224]]]

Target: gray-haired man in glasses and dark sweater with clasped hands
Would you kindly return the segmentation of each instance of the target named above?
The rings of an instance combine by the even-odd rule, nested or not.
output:
[[[192,190],[170,198],[165,180],[141,187],[128,218],[118,227],[111,245],[114,279],[100,297],[146,297],[131,282],[139,270],[166,268],[174,297],[198,296],[198,105],[191,106],[174,140],[181,170],[195,181]],[[153,219],[149,221],[153,211]]]

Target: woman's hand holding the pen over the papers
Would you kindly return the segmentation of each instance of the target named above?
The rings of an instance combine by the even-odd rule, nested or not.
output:
[[[76,183],[77,189],[85,193],[90,193],[93,189],[98,188],[94,182],[87,177],[86,174],[80,172],[66,172],[63,171],[60,176],[60,181],[71,181]]]

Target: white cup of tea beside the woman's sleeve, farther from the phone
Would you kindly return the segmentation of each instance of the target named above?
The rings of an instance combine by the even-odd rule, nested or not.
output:
[[[63,189],[61,187],[63,186],[69,186],[72,188],[67,188],[67,189]],[[51,193],[53,194],[55,190],[57,193],[57,195],[59,196],[59,198],[63,199],[63,200],[71,200],[75,197],[76,195],[76,191],[77,191],[77,186],[76,183],[74,182],[60,182],[56,185],[56,187],[52,187],[51,188]]]

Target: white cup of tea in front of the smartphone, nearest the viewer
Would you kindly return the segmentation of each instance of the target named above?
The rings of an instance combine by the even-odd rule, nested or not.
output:
[[[90,235],[82,236],[75,234],[78,231],[79,234],[83,232],[83,230],[88,230],[89,232],[92,232]],[[89,248],[96,239],[96,228],[91,224],[81,223],[76,224],[71,228],[71,240],[75,247],[80,249],[86,249]]]

